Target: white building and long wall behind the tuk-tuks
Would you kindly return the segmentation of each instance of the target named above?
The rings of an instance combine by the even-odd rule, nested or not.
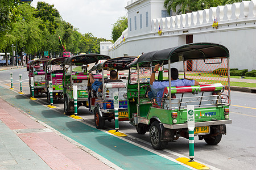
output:
[[[128,28],[108,51],[101,46],[101,53],[111,57],[138,56],[190,42],[214,42],[229,49],[230,68],[256,69],[256,0],[171,17],[166,17],[163,3],[164,0],[128,1]],[[159,26],[162,35],[158,33]]]

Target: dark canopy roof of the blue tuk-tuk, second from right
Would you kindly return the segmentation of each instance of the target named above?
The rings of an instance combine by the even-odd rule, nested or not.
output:
[[[116,57],[111,58],[105,62],[98,63],[97,65],[94,65],[92,69],[89,70],[89,72],[93,70],[104,70],[109,69],[117,69],[117,70],[127,70],[129,67],[127,67],[131,62],[134,61],[137,57],[129,56],[129,57]]]

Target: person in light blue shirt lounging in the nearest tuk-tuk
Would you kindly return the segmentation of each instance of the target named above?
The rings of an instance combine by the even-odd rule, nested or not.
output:
[[[150,77],[150,86],[147,87],[146,97],[150,100],[152,97],[162,97],[165,87],[169,87],[169,80],[158,81],[155,80],[155,73],[159,69],[160,65],[155,65],[154,70]],[[179,71],[176,68],[171,68],[171,86],[197,86],[199,82],[191,79],[179,79]]]

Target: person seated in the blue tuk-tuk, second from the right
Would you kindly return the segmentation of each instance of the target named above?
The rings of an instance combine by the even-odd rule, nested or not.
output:
[[[104,81],[104,83],[123,82],[122,80],[118,79],[117,75],[118,75],[117,71],[115,71],[115,70],[110,71],[110,79]],[[102,88],[103,88],[102,82],[94,80],[93,75],[91,73],[89,74],[89,79],[90,79],[90,83],[92,83],[92,89],[97,92],[101,92]]]

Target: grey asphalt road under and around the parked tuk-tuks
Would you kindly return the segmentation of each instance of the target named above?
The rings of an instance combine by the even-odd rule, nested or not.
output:
[[[22,74],[22,89],[24,96],[29,97],[28,72],[25,68],[0,71],[0,86],[10,88],[10,72],[13,72],[14,88],[19,91],[19,74]],[[48,105],[46,95],[36,97],[42,105]],[[230,118],[233,124],[226,125],[227,135],[222,136],[222,141],[216,146],[209,146],[204,141],[195,137],[195,160],[208,165],[211,169],[254,169],[256,167],[256,94],[232,91]],[[56,101],[56,110],[64,113],[63,100]],[[78,109],[79,116],[84,119],[84,124],[94,126],[94,116],[85,107]],[[114,121],[106,121],[106,129],[114,129]],[[119,129],[128,136],[125,137],[134,145],[146,148],[158,155],[170,158],[188,157],[188,139],[179,138],[169,142],[168,147],[162,151],[153,150],[150,144],[149,133],[137,134],[129,122],[119,122]],[[97,147],[97,146],[95,146]]]

